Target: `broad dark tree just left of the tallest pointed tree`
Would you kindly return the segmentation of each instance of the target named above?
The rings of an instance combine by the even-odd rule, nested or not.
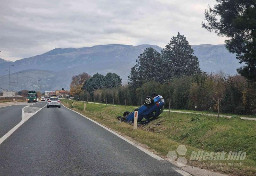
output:
[[[128,76],[128,84],[137,88],[148,81],[158,81],[159,75],[155,71],[161,69],[157,67],[159,60],[162,60],[159,52],[151,47],[146,48],[136,60],[137,64],[132,67],[130,76]]]

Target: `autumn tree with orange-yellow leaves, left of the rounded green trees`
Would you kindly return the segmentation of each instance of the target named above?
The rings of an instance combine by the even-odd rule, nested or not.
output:
[[[84,85],[84,82],[89,79],[91,76],[87,73],[82,73],[76,76],[72,77],[72,81],[70,84],[70,94],[79,94],[82,92],[82,86]],[[63,88],[62,88],[63,89]]]

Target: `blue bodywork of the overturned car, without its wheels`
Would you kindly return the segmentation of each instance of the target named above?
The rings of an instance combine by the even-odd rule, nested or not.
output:
[[[161,95],[153,98],[154,103],[149,107],[145,104],[138,108],[138,122],[145,118],[147,121],[156,119],[164,111],[164,99]],[[128,114],[125,122],[133,122],[134,111]]]

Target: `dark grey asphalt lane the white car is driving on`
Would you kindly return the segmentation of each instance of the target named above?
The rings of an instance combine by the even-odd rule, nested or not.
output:
[[[180,175],[92,121],[43,108],[0,145],[1,175]]]

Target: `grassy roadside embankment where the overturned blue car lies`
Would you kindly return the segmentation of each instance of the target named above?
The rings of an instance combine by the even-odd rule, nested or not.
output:
[[[67,101],[69,104],[67,105]],[[65,106],[71,108],[71,101],[62,99]],[[193,166],[207,168],[209,170],[221,171],[230,174],[254,175],[256,173],[256,122],[241,120],[240,118],[216,117],[171,113],[161,114],[160,118],[150,122],[148,125],[139,126],[136,131],[132,125],[122,123],[116,119],[122,116],[124,111],[132,111],[134,107],[104,104],[86,104],[86,111],[83,110],[83,102],[73,101],[73,108],[87,117],[104,124],[105,126],[129,136],[132,139],[146,144],[155,150],[160,156],[166,156],[169,151],[184,144],[188,151],[185,157],[188,163]],[[194,119],[194,120],[193,120]],[[233,151],[246,152],[243,161],[191,161],[189,160],[192,151],[204,150],[205,152]],[[177,153],[177,152],[176,152]],[[226,166],[211,166],[211,163],[226,163]],[[208,163],[208,166],[204,166]],[[228,163],[243,163],[242,166],[228,166]]]

